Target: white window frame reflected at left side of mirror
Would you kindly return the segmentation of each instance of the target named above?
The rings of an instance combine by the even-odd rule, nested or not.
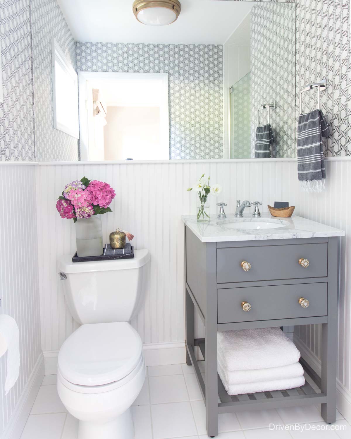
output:
[[[54,107],[54,128],[56,130],[63,131],[76,139],[79,139],[79,117],[78,117],[78,75],[75,69],[68,62],[66,55],[64,54],[57,41],[51,39],[51,58],[52,58],[52,87],[53,87],[53,107]],[[72,105],[77,108],[77,118],[72,121],[72,124],[65,125],[57,120],[57,107],[56,107],[56,85],[55,85],[55,63],[58,63],[61,68],[67,73],[73,80],[77,93],[71,97],[71,101],[67,102],[67,105]]]

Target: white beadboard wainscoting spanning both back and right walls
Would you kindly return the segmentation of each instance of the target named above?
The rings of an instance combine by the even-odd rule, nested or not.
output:
[[[132,324],[148,350],[153,364],[184,360],[184,272],[183,225],[181,215],[195,212],[195,194],[186,188],[202,173],[212,183],[223,186],[218,198],[211,197],[211,212],[216,202],[225,201],[233,212],[236,199],[259,200],[263,210],[274,201],[296,205],[295,213],[346,230],[340,245],[339,368],[338,406],[350,419],[350,186],[351,161],[326,160],[326,191],[304,194],[297,182],[296,160],[152,162],[115,164],[39,164],[36,166],[37,215],[39,238],[39,288],[41,301],[42,346],[47,371],[54,373],[58,349],[75,330],[57,276],[57,257],[75,252],[73,221],[62,220],[55,209],[56,198],[68,182],[82,176],[107,181],[114,187],[113,213],[101,216],[104,240],[121,227],[135,234],[136,248],[151,253],[150,279],[143,309]],[[201,320],[197,320],[202,336]],[[297,327],[297,343],[304,343],[311,359],[319,356],[318,326]],[[158,349],[159,348],[159,349]],[[150,354],[155,351],[157,355]],[[149,355],[149,357],[148,357]],[[348,403],[348,405],[347,405]]]

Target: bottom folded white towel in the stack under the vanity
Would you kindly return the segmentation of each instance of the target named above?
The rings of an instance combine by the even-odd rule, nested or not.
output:
[[[219,371],[218,371],[219,373]],[[221,377],[221,374],[219,373]],[[255,383],[242,383],[228,385],[226,381],[223,381],[224,388],[229,395],[243,395],[245,393],[257,393],[257,392],[270,392],[273,390],[294,389],[304,385],[304,377],[285,378],[282,380],[272,381],[259,381]]]

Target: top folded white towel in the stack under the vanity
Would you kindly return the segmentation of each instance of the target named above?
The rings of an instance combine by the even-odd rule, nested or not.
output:
[[[279,327],[217,332],[226,371],[267,369],[294,364],[300,352]]]

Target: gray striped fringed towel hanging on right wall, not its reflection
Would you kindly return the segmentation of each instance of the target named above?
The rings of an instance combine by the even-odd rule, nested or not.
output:
[[[321,110],[300,114],[297,126],[297,175],[303,191],[321,192],[325,188],[323,137],[329,135],[328,124]]]

